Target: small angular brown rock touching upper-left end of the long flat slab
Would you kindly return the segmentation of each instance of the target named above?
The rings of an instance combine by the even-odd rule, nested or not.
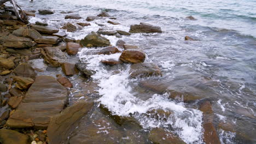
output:
[[[17,82],[15,83],[15,86],[19,89],[28,89],[34,82],[33,79],[30,77],[21,77],[21,76],[13,76],[13,81]]]

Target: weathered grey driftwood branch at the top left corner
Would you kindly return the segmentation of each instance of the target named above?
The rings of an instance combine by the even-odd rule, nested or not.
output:
[[[13,4],[15,15],[17,16],[17,18],[19,20],[21,20],[22,22],[27,22],[27,16],[26,16],[24,10],[22,10],[21,7],[14,0],[0,0],[0,5],[3,5],[4,3],[8,2],[8,1],[11,4]],[[20,13],[19,13],[18,8],[20,9]]]

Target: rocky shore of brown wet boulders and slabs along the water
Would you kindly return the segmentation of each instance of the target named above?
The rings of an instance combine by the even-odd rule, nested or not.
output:
[[[52,10],[26,11],[28,16],[50,15]],[[111,17],[106,11],[97,16],[81,17],[78,14],[65,14],[65,19],[84,19],[83,23],[68,22],[62,26],[67,32],[75,32],[90,26],[97,19],[106,19],[112,25],[121,25],[118,17]],[[97,94],[97,82],[91,76],[97,71],[88,69],[88,63],[73,61],[80,49],[96,49],[98,55],[121,53],[119,61],[101,61],[106,67],[123,63],[131,64],[130,79],[161,76],[158,64],[144,62],[147,54],[136,45],[118,40],[111,44],[104,35],[117,38],[133,33],[162,33],[158,26],[148,23],[131,25],[130,31],[120,29],[98,29],[85,34],[84,39],[75,40],[59,32],[59,28],[48,23],[23,23],[15,19],[12,8],[0,7],[0,143],[185,143],[178,135],[164,128],[144,131],[141,124],[132,116],[118,116],[93,99],[69,101],[73,88],[73,76],[86,81],[84,92]],[[189,16],[188,19],[196,20]],[[100,24],[98,24],[100,25]],[[188,36],[184,40],[194,40]],[[48,70],[61,68],[56,76],[40,75],[42,69],[32,67],[31,61],[43,59]],[[185,103],[199,101],[195,106],[202,112],[203,142],[220,143],[218,129],[235,130],[213,122],[211,100],[189,92],[176,91],[152,80],[139,82],[141,88],[159,94],[168,93],[173,100],[182,99]],[[95,116],[97,119],[92,120]],[[161,109],[148,111],[147,117],[165,120],[172,111]],[[230,123],[228,123],[230,124]],[[242,135],[242,134],[241,134]],[[129,137],[129,139],[126,139]]]

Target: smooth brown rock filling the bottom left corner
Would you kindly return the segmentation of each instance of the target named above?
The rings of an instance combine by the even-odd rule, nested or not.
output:
[[[0,143],[2,144],[28,144],[29,137],[15,130],[0,129]]]

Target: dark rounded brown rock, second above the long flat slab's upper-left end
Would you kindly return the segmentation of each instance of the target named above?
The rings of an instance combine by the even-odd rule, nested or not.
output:
[[[36,77],[36,72],[28,63],[21,63],[14,69],[14,74],[17,76],[30,77],[34,79]]]

